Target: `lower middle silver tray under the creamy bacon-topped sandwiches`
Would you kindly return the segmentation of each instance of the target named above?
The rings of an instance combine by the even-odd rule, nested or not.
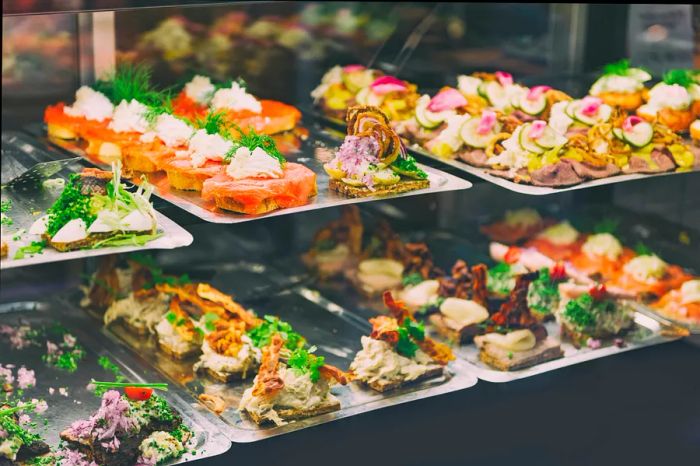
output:
[[[366,320],[334,306],[304,288],[282,292],[265,301],[256,302],[253,308],[258,314],[276,314],[291,323],[310,344],[318,347],[317,354],[325,356],[329,364],[342,369],[348,368],[355,353],[361,348],[360,337],[368,335],[371,330]],[[207,393],[223,398],[228,405],[221,414],[221,419],[227,424],[223,432],[233,442],[254,442],[355,414],[469,388],[477,382],[477,378],[464,362],[453,361],[448,366],[444,377],[426,380],[383,394],[355,383],[345,387],[336,386],[332,392],[340,400],[339,411],[291,422],[280,427],[259,427],[246,417],[242,417],[237,411],[243,391],[253,383],[252,377],[244,381],[224,384],[209,379],[206,375],[193,374],[192,365],[197,361],[197,357],[176,361],[156,348],[154,338],[135,335],[118,324],[110,326],[109,329],[142,357],[148,358],[148,361],[163,375],[180,385],[193,397]]]

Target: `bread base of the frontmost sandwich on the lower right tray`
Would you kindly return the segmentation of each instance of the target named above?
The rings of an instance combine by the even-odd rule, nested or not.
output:
[[[511,355],[511,357],[509,357]],[[564,356],[561,345],[553,338],[537,342],[527,351],[509,351],[499,346],[485,343],[479,348],[479,359],[500,371],[517,371]]]

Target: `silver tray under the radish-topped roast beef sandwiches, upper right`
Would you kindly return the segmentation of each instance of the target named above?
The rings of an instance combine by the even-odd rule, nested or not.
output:
[[[345,122],[336,120],[334,118],[329,118],[325,115],[322,115],[318,111],[311,111],[316,118],[322,122],[328,123],[332,125],[334,128],[344,128],[345,127]],[[342,137],[342,133],[331,130],[325,131],[326,134],[331,135],[335,139],[338,139],[338,137]],[[596,186],[603,186],[606,184],[613,184],[613,183],[622,183],[624,181],[633,181],[633,180],[640,180],[643,178],[650,178],[650,177],[658,177],[658,176],[668,176],[668,175],[683,175],[686,173],[696,173],[698,170],[690,170],[690,171],[682,171],[682,172],[666,172],[666,173],[655,173],[655,174],[642,174],[642,173],[635,173],[635,174],[630,174],[630,175],[616,175],[616,176],[610,176],[607,178],[599,179],[599,180],[590,180],[590,181],[584,181],[583,183],[579,183],[574,186],[568,186],[568,187],[562,187],[562,188],[549,188],[546,186],[533,186],[529,184],[522,184],[522,183],[515,183],[513,181],[507,180],[505,178],[500,178],[498,176],[491,175],[488,173],[487,169],[484,168],[479,168],[479,167],[473,167],[469,164],[463,163],[459,160],[453,160],[453,159],[445,159],[443,157],[438,157],[437,155],[431,154],[430,152],[426,151],[424,148],[417,144],[412,144],[407,146],[408,149],[414,154],[419,157],[425,157],[431,160],[435,160],[437,162],[440,162],[444,165],[449,165],[450,167],[456,168],[457,170],[463,171],[465,173],[469,173],[470,175],[474,175],[476,177],[479,177],[483,180],[486,180],[490,183],[493,183],[495,185],[498,185],[502,188],[509,189],[511,191],[515,191],[516,193],[521,193],[521,194],[528,194],[531,196],[542,196],[546,194],[555,194],[555,193],[562,193],[565,191],[574,191],[577,189],[586,189],[586,188],[594,188]]]

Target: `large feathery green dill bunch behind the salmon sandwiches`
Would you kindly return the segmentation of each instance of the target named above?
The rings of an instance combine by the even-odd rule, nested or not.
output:
[[[151,83],[151,69],[145,65],[121,63],[105,78],[98,80],[95,90],[103,93],[114,104],[122,100],[136,100],[146,106],[160,106],[163,94]]]

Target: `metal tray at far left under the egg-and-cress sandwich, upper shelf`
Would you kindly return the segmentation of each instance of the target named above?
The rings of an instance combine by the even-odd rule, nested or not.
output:
[[[36,150],[31,146],[25,147],[25,143],[21,139],[3,134],[3,159],[11,160],[14,167],[22,166],[25,171],[34,171],[34,180],[40,185],[40,182],[46,176],[54,178],[62,178],[66,180],[70,173],[79,172],[82,165],[78,161],[67,160],[60,161],[61,166],[58,171],[52,169],[48,172],[40,173],[37,170],[32,170],[35,164],[42,160],[37,156]],[[53,162],[50,162],[50,164]],[[49,164],[49,165],[50,165]],[[15,168],[14,173],[21,173],[21,170]],[[20,175],[21,176],[21,175]],[[22,183],[18,186],[8,186],[2,189],[2,199],[11,200],[12,208],[9,212],[13,220],[11,226],[2,226],[3,237],[8,239],[8,257],[0,261],[0,269],[10,269],[14,267],[22,267],[35,264],[44,264],[48,262],[66,261],[71,259],[80,259],[85,257],[101,256],[105,254],[115,254],[120,252],[130,252],[146,249],[173,249],[183,246],[188,246],[192,243],[192,235],[184,228],[177,225],[175,222],[165,217],[160,212],[156,211],[158,221],[158,231],[163,235],[153,241],[148,242],[144,246],[119,246],[119,247],[104,247],[98,249],[83,249],[78,251],[59,252],[55,249],[47,247],[41,254],[36,254],[32,257],[23,259],[13,259],[18,247],[22,246],[26,240],[21,238],[14,240],[16,233],[20,230],[27,231],[39,215],[46,212],[56,198],[60,195],[61,189],[40,188],[31,183]]]

